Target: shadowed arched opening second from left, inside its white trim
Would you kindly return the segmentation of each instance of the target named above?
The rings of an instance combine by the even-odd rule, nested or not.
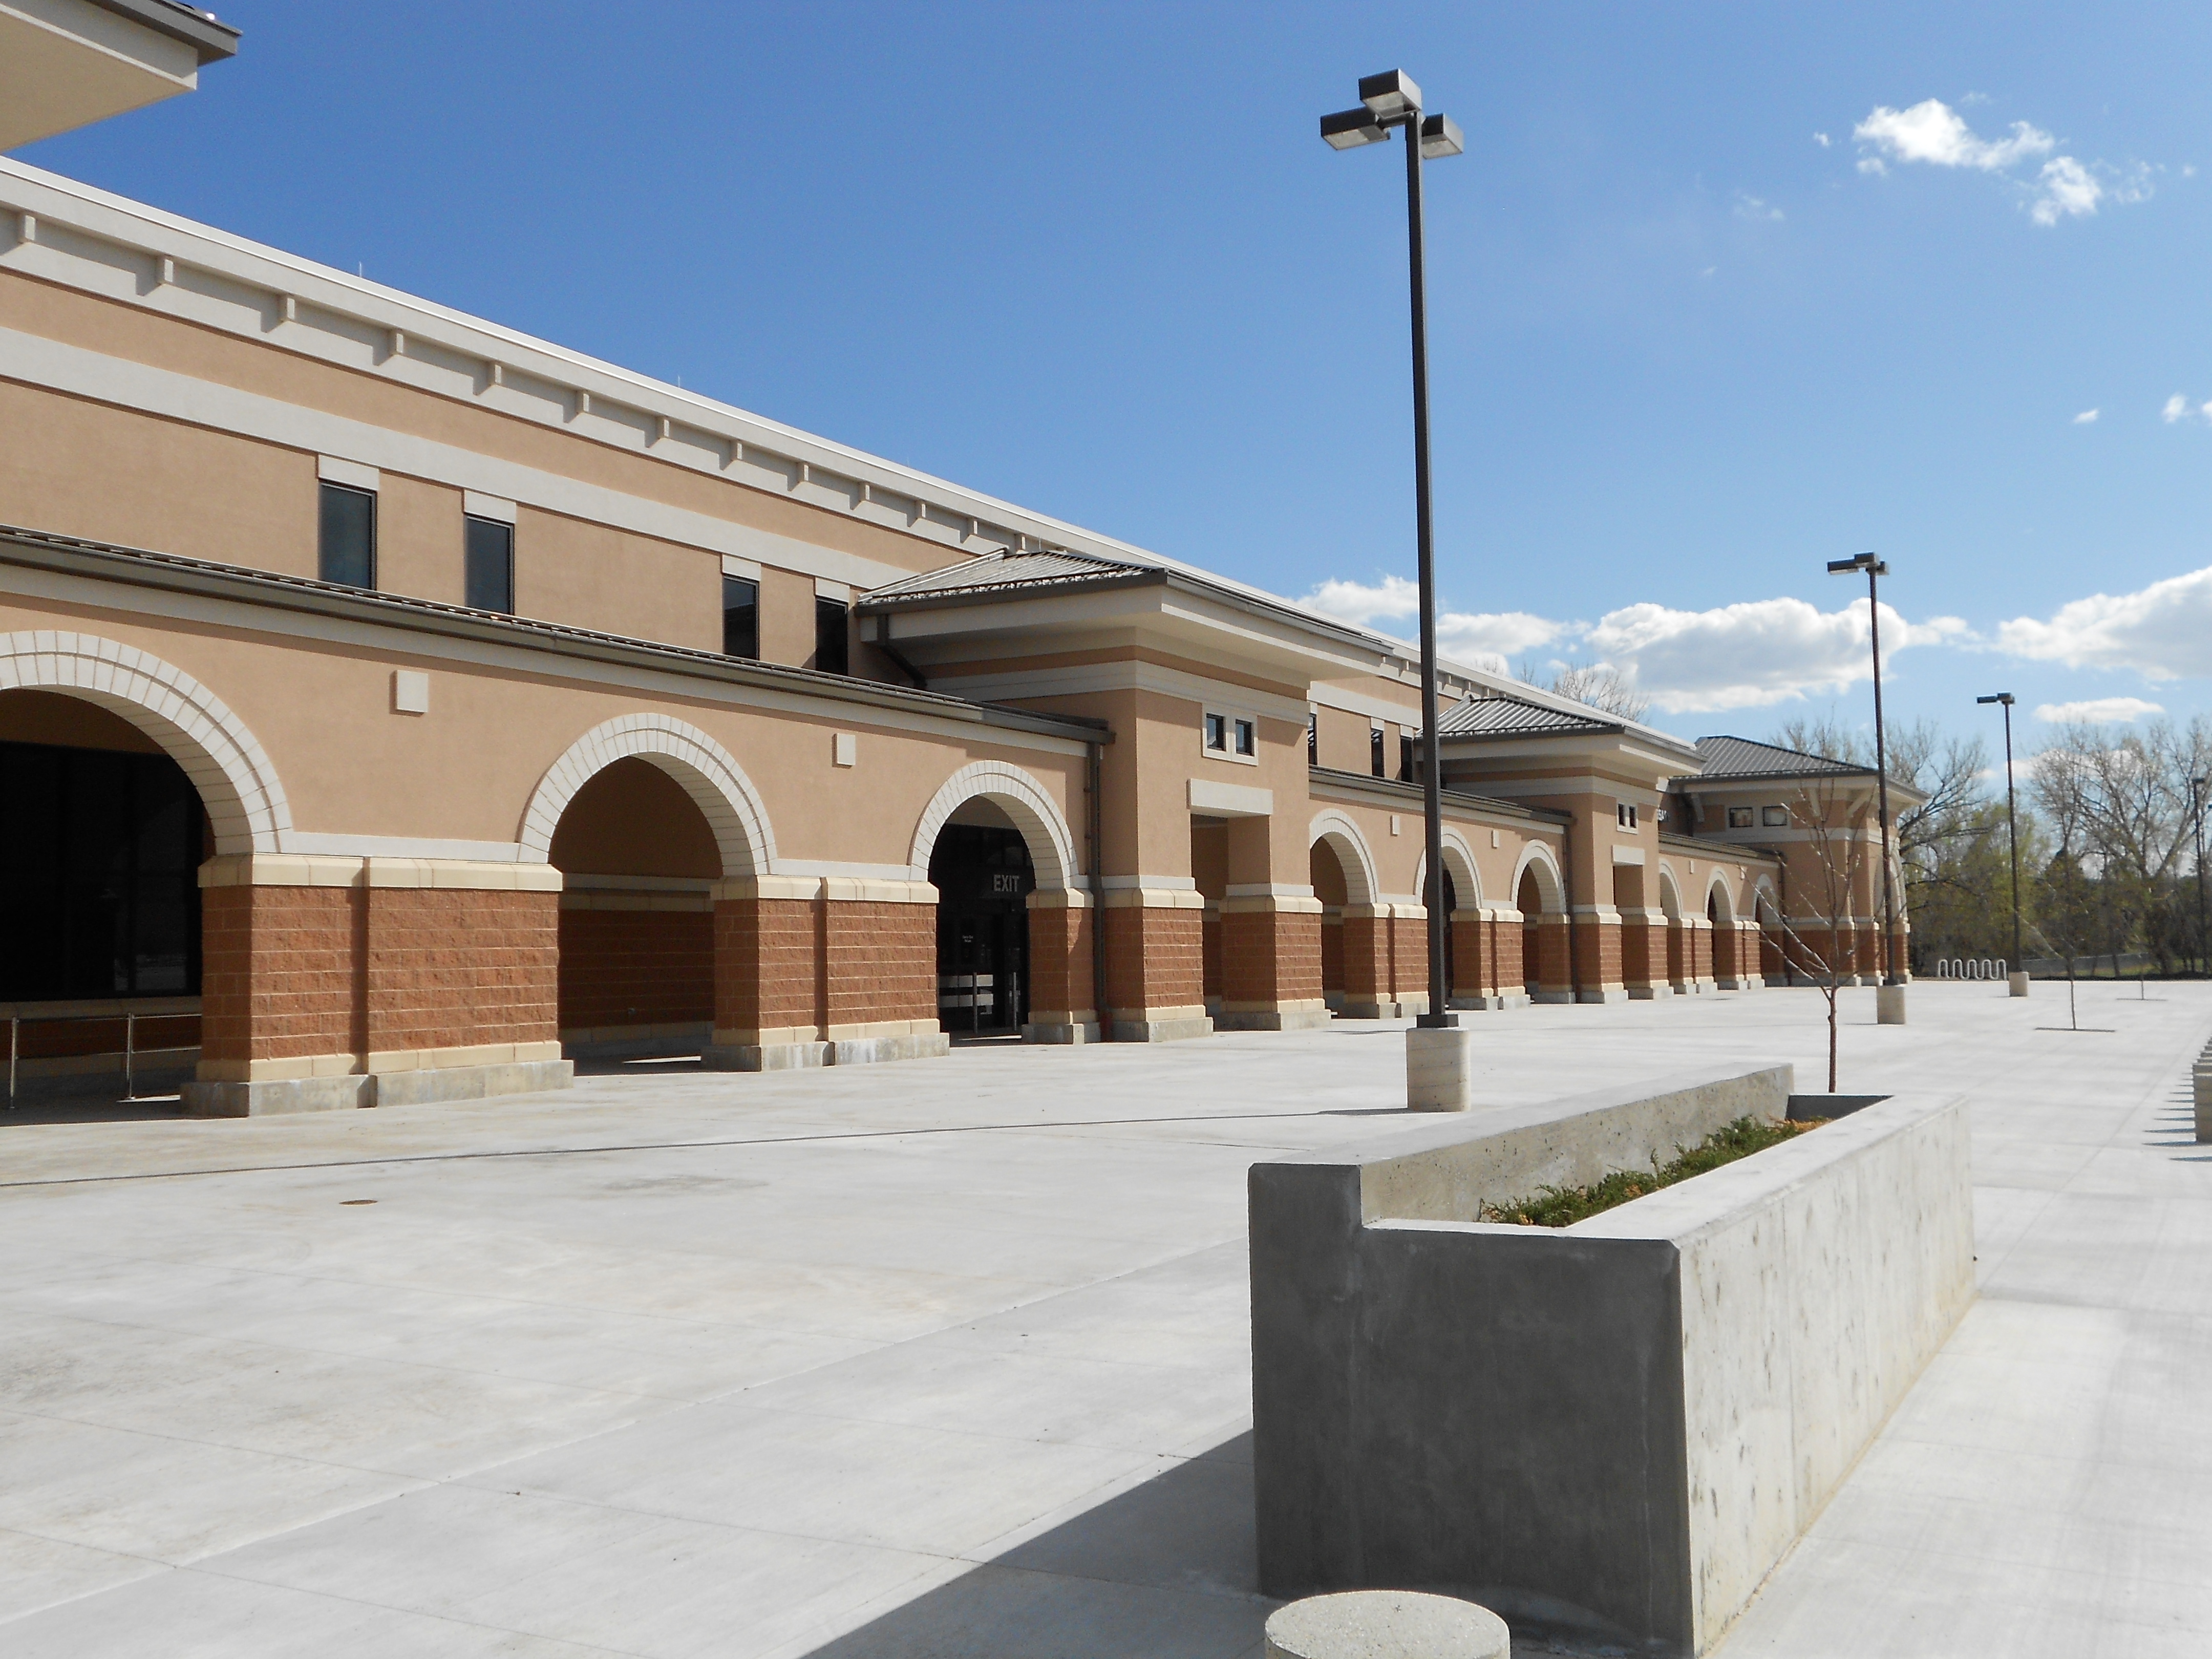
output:
[[[697,1053],[714,1024],[714,827],[653,761],[611,761],[568,799],[549,860],[562,872],[560,1037],[571,1055]]]

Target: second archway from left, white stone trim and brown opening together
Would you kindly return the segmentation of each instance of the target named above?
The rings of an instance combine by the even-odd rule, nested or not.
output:
[[[560,1037],[571,1055],[699,1053],[714,1029],[714,883],[768,874],[768,812],[712,737],[666,714],[606,721],[524,812],[524,856],[562,872]]]

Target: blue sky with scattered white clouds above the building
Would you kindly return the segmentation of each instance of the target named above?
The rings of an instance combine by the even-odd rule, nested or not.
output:
[[[2203,7],[221,15],[18,155],[1411,630],[1400,161],[1314,133],[1402,66],[1455,648],[1863,714],[1878,549],[1898,714],[2212,710]]]

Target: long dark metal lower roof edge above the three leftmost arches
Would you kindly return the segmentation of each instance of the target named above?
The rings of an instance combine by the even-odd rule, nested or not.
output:
[[[876,679],[825,675],[814,668],[785,668],[783,664],[752,661],[750,657],[723,657],[719,650],[666,646],[657,639],[571,628],[560,622],[511,617],[498,611],[471,611],[460,604],[414,599],[405,593],[374,593],[336,582],[312,582],[303,575],[279,575],[239,564],[188,560],[179,553],[148,553],[137,546],[86,542],[75,535],[53,535],[51,531],[29,531],[13,524],[0,524],[0,564],[71,571],[75,575],[166,588],[170,593],[206,593],[221,599],[237,599],[239,604],[349,617],[354,622],[374,622],[389,628],[458,639],[482,639],[520,650],[542,650],[555,657],[615,661],[726,686],[799,692],[874,708],[902,708],[956,721],[1048,732],[1082,743],[1113,741],[1113,730],[1106,721],[1082,714],[1040,714],[1004,703],[978,703],[967,697],[947,697],[945,692],[885,686]]]

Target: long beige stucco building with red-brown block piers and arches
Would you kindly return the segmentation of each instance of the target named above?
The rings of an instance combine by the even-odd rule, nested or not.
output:
[[[1871,929],[1732,827],[1778,774],[1444,695],[1458,1006],[1750,989],[1763,918]],[[108,1064],[124,1011],[223,1113],[1416,1013],[1422,754],[1402,641],[0,161],[33,1068]]]

